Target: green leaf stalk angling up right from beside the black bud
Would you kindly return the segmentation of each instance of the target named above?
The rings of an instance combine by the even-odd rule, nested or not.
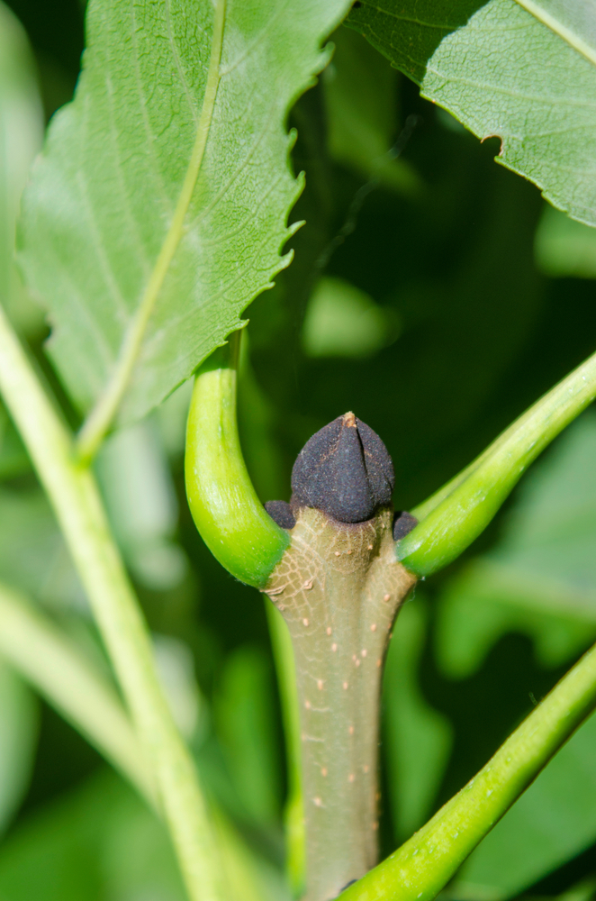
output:
[[[420,524],[396,545],[418,576],[447,566],[474,542],[529,464],[596,397],[596,354],[559,382],[424,504]]]

